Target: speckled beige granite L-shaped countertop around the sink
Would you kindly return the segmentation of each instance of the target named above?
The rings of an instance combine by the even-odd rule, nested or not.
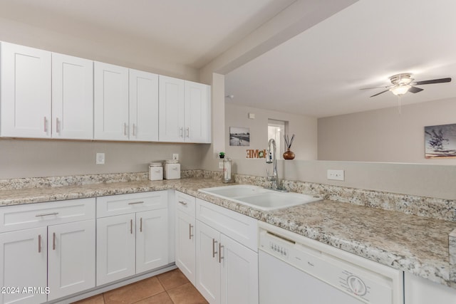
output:
[[[456,288],[449,253],[449,235],[456,229],[456,222],[329,200],[260,211],[197,191],[222,185],[214,179],[185,178],[9,189],[0,190],[0,206],[176,189],[383,265]]]

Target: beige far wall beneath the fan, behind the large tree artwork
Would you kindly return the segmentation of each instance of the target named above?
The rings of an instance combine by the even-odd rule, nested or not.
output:
[[[456,164],[425,159],[424,127],[456,123],[456,100],[385,108],[318,119],[318,159]]]

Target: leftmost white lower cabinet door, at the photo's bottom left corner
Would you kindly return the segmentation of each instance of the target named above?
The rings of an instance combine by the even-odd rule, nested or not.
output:
[[[46,236],[46,227],[0,234],[0,286],[18,288],[0,293],[0,303],[46,302]],[[29,287],[38,292],[27,292]]]

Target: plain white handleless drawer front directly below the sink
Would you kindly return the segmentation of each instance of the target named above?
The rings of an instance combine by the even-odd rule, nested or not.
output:
[[[229,236],[253,251],[258,250],[257,219],[211,204],[202,199],[197,199],[196,202],[196,214],[199,221],[217,229],[225,236]]]

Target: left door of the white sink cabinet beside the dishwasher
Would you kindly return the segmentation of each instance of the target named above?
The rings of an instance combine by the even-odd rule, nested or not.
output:
[[[197,221],[197,283],[209,303],[220,303],[220,234],[219,231]]]

